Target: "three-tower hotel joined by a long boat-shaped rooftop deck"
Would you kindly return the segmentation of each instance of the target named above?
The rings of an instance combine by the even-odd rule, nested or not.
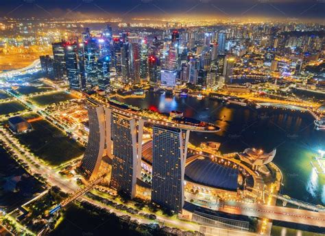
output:
[[[121,103],[102,105],[88,99],[89,136],[82,169],[94,179],[101,159],[112,160],[110,187],[131,198],[141,178],[143,127],[152,125],[152,202],[180,213],[184,205],[184,170],[190,131],[216,132],[204,122],[170,122],[139,116],[139,110]]]

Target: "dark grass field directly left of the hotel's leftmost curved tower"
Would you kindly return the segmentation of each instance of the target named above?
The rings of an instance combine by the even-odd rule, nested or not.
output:
[[[33,131],[17,135],[22,144],[51,166],[79,157],[84,147],[67,137],[47,120],[32,122]]]

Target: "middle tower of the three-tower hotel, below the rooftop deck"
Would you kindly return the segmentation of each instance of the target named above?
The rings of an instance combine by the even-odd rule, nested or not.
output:
[[[136,120],[112,113],[111,187],[131,198],[136,193],[137,149]]]

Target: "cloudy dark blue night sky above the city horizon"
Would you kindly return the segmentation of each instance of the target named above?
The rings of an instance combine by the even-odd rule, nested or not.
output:
[[[0,0],[0,16],[215,16],[318,18],[325,0]]]

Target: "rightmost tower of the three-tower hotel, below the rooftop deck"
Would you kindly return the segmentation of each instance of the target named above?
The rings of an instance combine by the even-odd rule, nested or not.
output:
[[[184,205],[184,168],[189,131],[154,125],[152,202],[175,213]]]

